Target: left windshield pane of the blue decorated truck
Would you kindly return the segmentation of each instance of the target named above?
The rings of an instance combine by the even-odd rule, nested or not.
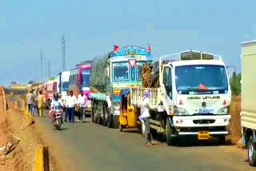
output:
[[[129,80],[129,63],[113,63],[113,81],[124,82]]]

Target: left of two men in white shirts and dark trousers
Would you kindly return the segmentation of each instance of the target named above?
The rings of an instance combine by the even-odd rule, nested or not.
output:
[[[73,91],[70,91],[69,96],[66,98],[66,109],[69,115],[69,121],[74,123],[74,105],[77,104],[77,98],[74,97]]]

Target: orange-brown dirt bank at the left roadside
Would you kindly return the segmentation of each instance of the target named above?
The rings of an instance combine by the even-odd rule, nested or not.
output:
[[[11,134],[21,139],[17,147],[6,155],[6,160],[0,160],[0,171],[33,170],[35,150],[38,144],[43,145],[41,137],[36,133],[35,124],[21,129],[23,113],[18,110],[10,109],[0,114],[0,147],[6,145]]]

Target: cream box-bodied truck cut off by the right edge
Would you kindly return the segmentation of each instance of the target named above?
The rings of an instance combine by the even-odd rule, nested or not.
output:
[[[242,144],[248,149],[250,165],[256,165],[256,40],[242,42],[241,125]]]

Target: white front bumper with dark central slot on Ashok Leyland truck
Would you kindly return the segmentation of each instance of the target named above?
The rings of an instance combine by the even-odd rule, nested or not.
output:
[[[215,127],[230,124],[230,115],[174,116],[174,127]]]

